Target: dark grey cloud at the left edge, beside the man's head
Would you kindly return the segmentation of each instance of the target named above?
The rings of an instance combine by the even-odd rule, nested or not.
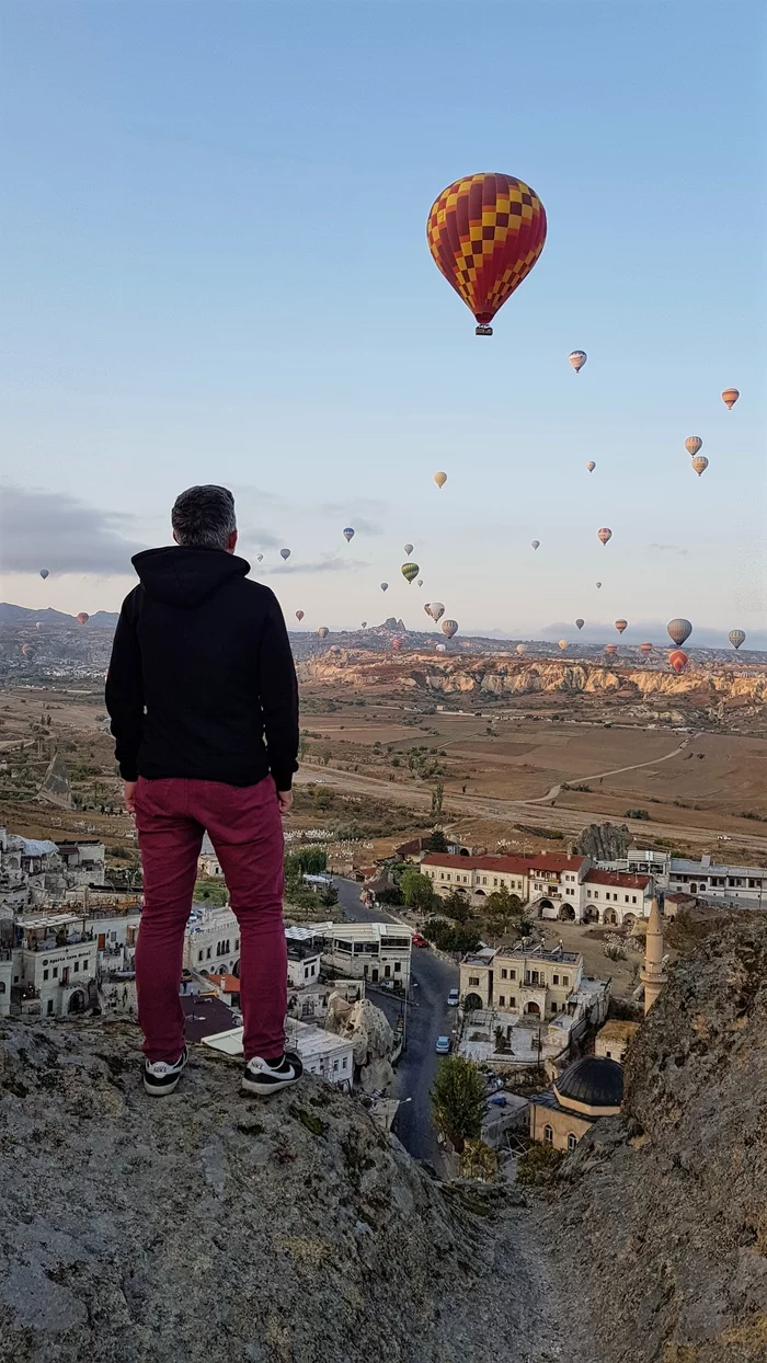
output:
[[[131,571],[131,555],[146,545],[124,533],[132,518],[89,506],[68,492],[0,488],[0,568],[4,572]]]

